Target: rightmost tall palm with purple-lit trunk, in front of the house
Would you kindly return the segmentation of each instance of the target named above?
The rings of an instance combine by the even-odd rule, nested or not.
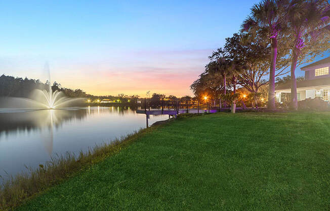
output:
[[[298,109],[297,81],[295,70],[301,50],[309,41],[315,40],[324,31],[329,32],[330,6],[327,1],[300,1],[288,8],[288,34],[293,37],[291,62],[291,107]]]

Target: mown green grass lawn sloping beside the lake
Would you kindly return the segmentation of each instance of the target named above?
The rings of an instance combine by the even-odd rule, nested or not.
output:
[[[330,113],[162,125],[17,210],[329,210]]]

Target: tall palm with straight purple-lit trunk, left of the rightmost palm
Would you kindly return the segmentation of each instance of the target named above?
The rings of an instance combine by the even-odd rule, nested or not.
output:
[[[258,34],[269,39],[271,46],[271,61],[269,71],[269,94],[268,108],[275,109],[275,69],[277,57],[277,37],[285,22],[285,12],[288,0],[263,0],[255,4],[251,9],[251,15],[247,17],[242,30],[250,31],[253,35]]]

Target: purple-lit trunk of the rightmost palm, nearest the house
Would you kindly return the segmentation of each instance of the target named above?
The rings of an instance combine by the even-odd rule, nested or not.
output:
[[[291,102],[290,107],[293,110],[298,110],[298,98],[297,98],[297,80],[296,80],[296,66],[297,66],[297,60],[299,57],[299,49],[295,47],[293,50],[292,55],[292,62],[291,62]]]

